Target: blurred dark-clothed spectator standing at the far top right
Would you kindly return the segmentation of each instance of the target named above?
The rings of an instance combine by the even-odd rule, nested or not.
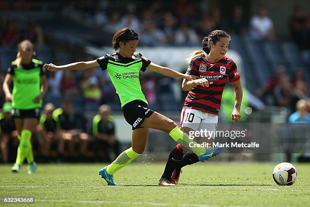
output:
[[[301,12],[300,6],[295,6],[293,15],[290,19],[290,30],[293,41],[299,46],[299,48],[303,47],[303,36],[304,36],[304,28],[305,28],[306,18]]]

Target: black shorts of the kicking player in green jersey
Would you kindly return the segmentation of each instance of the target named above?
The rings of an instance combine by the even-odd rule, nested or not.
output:
[[[154,113],[145,102],[140,100],[125,104],[122,110],[126,121],[132,126],[132,130],[141,128],[144,119]]]

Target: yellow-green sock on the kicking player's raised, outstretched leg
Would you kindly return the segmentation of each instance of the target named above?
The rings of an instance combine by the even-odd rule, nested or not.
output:
[[[192,139],[189,139],[188,135],[186,133],[182,132],[182,130],[180,130],[178,127],[175,127],[173,130],[171,130],[171,132],[169,132],[169,135],[178,144],[192,150],[197,155],[201,155],[201,154],[204,154],[206,152],[206,148],[197,147],[195,145],[195,144],[197,144],[197,142],[193,141]]]

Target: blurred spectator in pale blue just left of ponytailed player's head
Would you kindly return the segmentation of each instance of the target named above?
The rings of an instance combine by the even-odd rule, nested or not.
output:
[[[182,22],[175,33],[175,43],[178,46],[195,46],[200,42],[195,30],[188,27],[187,22]]]

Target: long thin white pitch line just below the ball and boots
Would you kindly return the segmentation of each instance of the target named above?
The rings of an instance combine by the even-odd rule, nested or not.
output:
[[[267,191],[310,191],[306,189],[276,189],[276,188],[245,188],[245,187],[238,187],[238,186],[0,186],[0,188],[51,188],[51,189],[74,189],[74,188],[199,188],[199,189],[231,189],[231,190],[243,190],[243,189],[248,189],[248,190],[267,190]],[[235,187],[234,189],[232,187]],[[285,186],[284,186],[285,187]]]

